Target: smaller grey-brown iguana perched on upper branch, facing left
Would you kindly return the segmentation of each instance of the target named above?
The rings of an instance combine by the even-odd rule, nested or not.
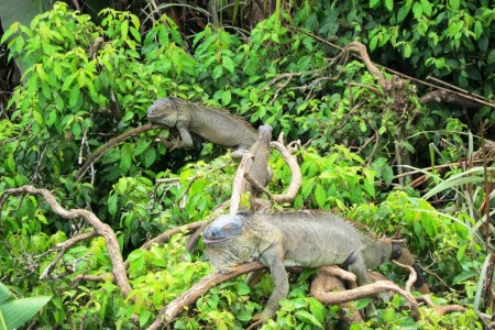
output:
[[[216,144],[234,148],[232,156],[240,158],[256,141],[256,132],[237,116],[174,97],[153,102],[147,109],[147,118],[153,123],[177,128],[180,139],[163,141],[170,148],[191,147],[190,132],[194,132]]]

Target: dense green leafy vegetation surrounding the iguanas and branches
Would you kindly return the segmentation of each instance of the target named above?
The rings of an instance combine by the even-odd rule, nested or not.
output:
[[[422,307],[415,321],[397,297],[354,327],[473,329],[482,327],[480,314],[494,312],[491,1],[280,2],[270,2],[273,14],[260,18],[235,1],[217,9],[216,20],[202,16],[199,6],[180,7],[182,15],[167,6],[146,8],[144,16],[106,9],[91,19],[56,3],[29,26],[4,29],[3,68],[14,59],[22,79],[2,96],[0,193],[32,185],[53,193],[64,208],[91,210],[117,234],[132,288],[125,298],[112,283],[101,237],[64,251],[46,274],[57,246],[91,226],[55,216],[43,198],[2,195],[0,282],[16,297],[52,296],[36,326],[144,328],[213,272],[201,246],[185,250],[180,233],[139,248],[208,219],[230,198],[238,163],[224,150],[196,139],[193,150],[168,151],[155,138],[175,132],[146,132],[110,148],[76,178],[89,154],[147,123],[150,105],[168,96],[227,108],[254,127],[271,124],[274,136],[300,140],[301,189],[294,204],[274,209],[334,209],[381,235],[405,239],[426,271],[433,302],[468,308],[441,316]],[[363,54],[349,51],[353,41],[366,46],[380,74]],[[393,86],[400,95],[385,88],[384,81],[398,79],[391,69],[411,76],[402,89]],[[424,84],[427,76],[470,95],[458,89],[432,101],[429,92],[438,88]],[[290,172],[276,153],[271,165],[270,189],[282,191]],[[404,282],[389,264],[380,272]],[[266,328],[337,321],[337,306],[308,296],[312,274],[294,276],[288,299]],[[227,282],[173,326],[245,328],[271,288],[270,276],[253,288],[243,278]]]

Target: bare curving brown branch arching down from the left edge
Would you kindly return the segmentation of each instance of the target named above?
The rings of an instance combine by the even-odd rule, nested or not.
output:
[[[127,297],[129,293],[131,292],[131,285],[129,283],[128,276],[125,274],[125,267],[123,264],[123,258],[120,253],[119,243],[117,241],[117,235],[113,232],[113,230],[110,228],[110,226],[101,222],[100,219],[98,219],[95,213],[84,210],[84,209],[70,209],[66,210],[63,208],[55,199],[52,193],[50,193],[46,189],[37,189],[33,186],[22,186],[20,188],[12,188],[7,189],[3,191],[3,195],[0,198],[0,210],[2,209],[3,205],[6,204],[9,196],[12,195],[20,195],[20,194],[30,194],[30,195],[36,195],[42,196],[48,204],[48,206],[52,208],[52,210],[59,217],[64,219],[76,219],[76,218],[82,218],[85,219],[89,224],[91,224],[95,228],[95,231],[102,235],[105,238],[108,254],[110,257],[110,261],[112,263],[112,274],[116,278],[116,283],[119,286],[122,295]]]

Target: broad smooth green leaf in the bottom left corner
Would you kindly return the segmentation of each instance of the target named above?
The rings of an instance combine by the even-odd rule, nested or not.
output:
[[[0,315],[7,329],[16,329],[31,320],[52,297],[40,296],[8,301],[0,306]]]

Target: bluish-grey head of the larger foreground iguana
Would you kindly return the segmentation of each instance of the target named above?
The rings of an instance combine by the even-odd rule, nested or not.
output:
[[[254,238],[242,219],[242,215],[220,216],[202,234],[205,254],[220,273],[229,273],[235,265],[257,257]]]

